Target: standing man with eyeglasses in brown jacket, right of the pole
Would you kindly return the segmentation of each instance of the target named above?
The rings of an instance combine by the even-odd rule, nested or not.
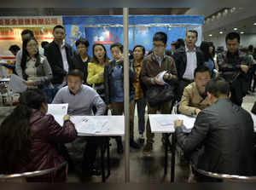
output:
[[[147,89],[164,85],[158,80],[160,72],[167,71],[163,79],[168,83],[177,82],[177,70],[175,62],[171,56],[165,55],[167,47],[167,35],[164,32],[156,32],[153,37],[154,51],[143,59],[143,68],[141,70],[141,80]],[[162,103],[156,107],[150,107],[148,104],[148,114],[155,114],[160,111],[162,114],[172,112],[172,101]],[[147,122],[147,144],[143,148],[143,153],[149,155],[153,150],[154,133],[151,133],[149,120]],[[164,138],[163,138],[164,139]],[[163,141],[164,143],[167,143]]]

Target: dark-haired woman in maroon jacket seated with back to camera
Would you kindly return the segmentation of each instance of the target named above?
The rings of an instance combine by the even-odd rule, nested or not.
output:
[[[20,103],[0,126],[0,174],[47,170],[65,162],[57,144],[73,141],[74,124],[66,115],[63,127],[52,115],[46,115],[48,104],[40,89],[27,89]],[[26,181],[65,181],[67,168]]]

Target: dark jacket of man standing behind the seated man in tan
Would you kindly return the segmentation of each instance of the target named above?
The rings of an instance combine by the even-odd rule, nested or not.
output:
[[[204,64],[205,58],[201,50],[196,48],[195,53],[196,53],[197,66]],[[177,68],[177,78],[180,80],[183,78],[183,74],[186,71],[186,67],[187,67],[187,55],[186,55],[185,48],[182,47],[177,49],[172,55],[172,57],[175,60],[175,64]]]

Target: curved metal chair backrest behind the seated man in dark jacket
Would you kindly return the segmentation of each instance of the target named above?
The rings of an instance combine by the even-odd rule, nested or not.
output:
[[[256,181],[256,176],[238,176],[238,175],[230,175],[230,174],[218,174],[218,173],[213,173],[210,171],[198,169],[195,167],[194,164],[192,164],[192,168],[203,176],[221,179],[223,181],[245,181],[245,182]]]

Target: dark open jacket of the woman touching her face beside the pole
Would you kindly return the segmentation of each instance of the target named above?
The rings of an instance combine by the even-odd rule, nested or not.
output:
[[[122,66],[124,65],[123,63],[120,63]],[[112,60],[110,62],[108,62],[108,64],[105,66],[104,68],[104,88],[105,88],[105,103],[108,105],[109,103],[111,103],[110,99],[111,97],[113,97],[113,92],[114,90],[111,89],[114,87],[114,83],[113,83],[113,79],[112,79],[112,72],[113,72],[113,67],[116,66],[116,62],[115,60]],[[124,66],[122,67],[123,69],[123,82],[124,82]],[[135,95],[135,88],[133,86],[133,82],[136,78],[135,72],[134,72],[134,68],[133,68],[133,64],[130,61],[130,66],[129,66],[129,82],[130,82],[130,98],[131,95]]]

